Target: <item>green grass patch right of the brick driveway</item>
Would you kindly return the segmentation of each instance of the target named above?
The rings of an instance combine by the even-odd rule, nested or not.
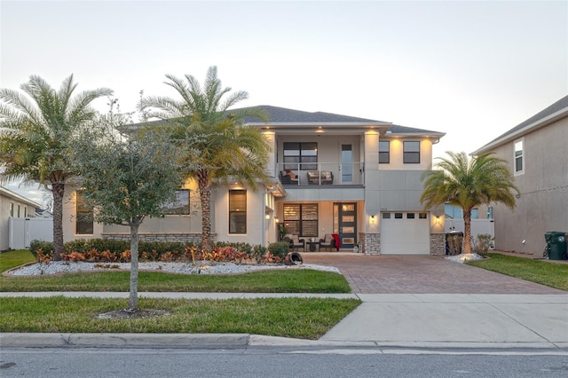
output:
[[[555,264],[497,253],[488,254],[488,256],[491,258],[469,262],[468,264],[568,291],[568,264]]]

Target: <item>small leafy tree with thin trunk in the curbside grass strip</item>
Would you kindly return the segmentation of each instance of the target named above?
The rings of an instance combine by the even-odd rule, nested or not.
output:
[[[121,123],[111,112],[75,141],[75,170],[95,221],[130,227],[129,311],[138,311],[138,228],[146,217],[163,216],[183,179],[168,135],[138,130],[125,136],[114,127]]]

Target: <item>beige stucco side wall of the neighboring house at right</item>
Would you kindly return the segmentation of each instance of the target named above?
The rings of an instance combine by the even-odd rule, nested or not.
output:
[[[568,232],[568,118],[519,139],[525,142],[525,173],[515,177],[521,194],[513,211],[493,206],[495,248],[540,256],[545,232]],[[493,150],[511,171],[515,141]]]

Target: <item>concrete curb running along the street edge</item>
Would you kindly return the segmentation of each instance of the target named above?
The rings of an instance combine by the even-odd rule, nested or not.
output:
[[[359,348],[382,354],[542,354],[568,356],[568,343],[336,342],[248,334],[0,334],[3,348]]]

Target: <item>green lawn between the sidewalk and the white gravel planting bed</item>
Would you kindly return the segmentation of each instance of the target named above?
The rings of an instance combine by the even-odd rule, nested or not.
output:
[[[4,256],[5,255],[5,256]],[[0,254],[2,271],[34,261],[29,251]],[[71,263],[73,264],[73,263]],[[2,276],[0,291],[129,291],[130,272],[82,272],[32,277]],[[138,291],[214,293],[350,293],[341,274],[311,269],[230,275],[139,272]]]

